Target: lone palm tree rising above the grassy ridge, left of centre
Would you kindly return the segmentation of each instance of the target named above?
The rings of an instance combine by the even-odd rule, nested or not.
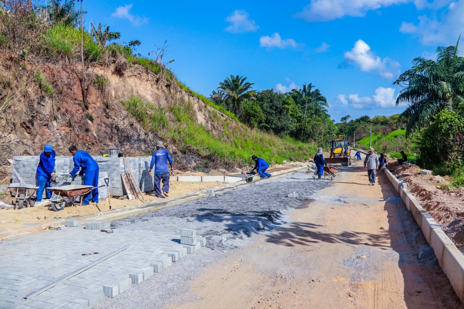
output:
[[[222,83],[219,83],[218,90],[225,94],[226,100],[229,100],[232,105],[232,112],[238,115],[238,109],[245,99],[252,99],[255,92],[251,90],[254,83],[245,82],[246,77],[233,76],[227,77]]]

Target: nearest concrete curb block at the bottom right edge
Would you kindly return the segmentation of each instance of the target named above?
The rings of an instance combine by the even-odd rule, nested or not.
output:
[[[456,245],[445,245],[441,268],[459,297],[464,301],[464,256]]]

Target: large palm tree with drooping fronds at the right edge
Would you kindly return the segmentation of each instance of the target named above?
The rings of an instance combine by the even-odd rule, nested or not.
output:
[[[427,128],[441,110],[457,110],[464,103],[464,58],[456,46],[438,47],[437,61],[415,58],[412,69],[395,81],[404,84],[396,105],[408,103],[398,121],[406,122],[406,135]]]

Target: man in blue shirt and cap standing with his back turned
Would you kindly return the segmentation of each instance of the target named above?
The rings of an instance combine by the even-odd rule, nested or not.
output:
[[[169,193],[169,165],[171,165],[171,172],[174,172],[173,161],[169,155],[168,150],[164,149],[164,143],[161,141],[156,142],[156,150],[151,156],[150,169],[148,176],[151,177],[151,170],[155,166],[155,193],[159,198],[168,196]],[[163,194],[161,195],[161,180],[163,181]]]

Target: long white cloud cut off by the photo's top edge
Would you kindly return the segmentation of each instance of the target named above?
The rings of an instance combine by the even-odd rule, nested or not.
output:
[[[344,16],[361,17],[370,10],[407,2],[411,0],[311,0],[295,17],[308,22],[329,21]]]

